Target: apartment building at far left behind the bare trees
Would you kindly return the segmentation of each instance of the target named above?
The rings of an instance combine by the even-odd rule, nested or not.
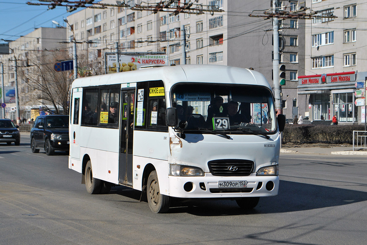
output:
[[[53,69],[59,53],[66,48],[65,45],[61,44],[65,37],[66,28],[41,27],[9,42],[10,54],[4,55],[3,58],[4,74],[7,74],[4,78],[4,84],[5,86],[15,86],[15,78],[17,77],[21,118],[34,117],[36,111],[39,113],[40,108],[45,103],[50,104],[42,99],[44,97],[42,89],[35,89],[36,84],[40,85],[41,88],[41,84],[44,84],[41,77],[46,78],[49,72],[40,74],[39,71],[37,72],[37,67],[45,65]],[[17,59],[17,76],[15,75],[14,58]],[[51,86],[51,84],[44,84],[44,86]],[[55,93],[59,93],[59,91],[55,91]],[[6,117],[15,119],[15,115],[15,102],[7,104]]]

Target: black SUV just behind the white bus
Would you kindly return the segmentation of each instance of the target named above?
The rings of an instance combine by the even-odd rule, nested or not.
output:
[[[55,150],[69,152],[69,116],[38,116],[30,130],[30,148],[33,153],[42,148],[48,156]]]

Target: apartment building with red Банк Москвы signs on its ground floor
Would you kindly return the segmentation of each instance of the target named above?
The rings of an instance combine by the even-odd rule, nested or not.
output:
[[[309,100],[312,120],[364,123],[356,106],[356,82],[367,76],[364,1],[310,0],[318,18],[306,20],[305,76],[298,77],[298,95]]]

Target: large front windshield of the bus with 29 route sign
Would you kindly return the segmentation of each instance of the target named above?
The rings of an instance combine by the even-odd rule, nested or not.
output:
[[[177,129],[231,134],[276,130],[271,91],[264,86],[178,84],[172,88]]]

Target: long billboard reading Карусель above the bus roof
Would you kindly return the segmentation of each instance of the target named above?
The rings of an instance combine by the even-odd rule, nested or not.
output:
[[[116,54],[106,54],[106,74],[115,73],[117,62]],[[140,67],[148,65],[163,66],[167,65],[166,54],[120,54],[119,55],[120,72],[138,70]]]

